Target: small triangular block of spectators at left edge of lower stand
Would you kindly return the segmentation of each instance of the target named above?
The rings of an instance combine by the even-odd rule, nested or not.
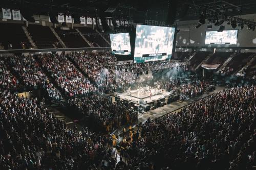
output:
[[[0,90],[10,90],[19,84],[18,79],[6,68],[4,61],[0,60]]]

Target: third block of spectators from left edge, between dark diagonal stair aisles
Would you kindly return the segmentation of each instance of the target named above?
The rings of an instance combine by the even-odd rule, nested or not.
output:
[[[96,87],[76,69],[66,56],[44,54],[38,57],[42,62],[42,67],[50,72],[52,78],[67,96],[73,97],[96,91]]]

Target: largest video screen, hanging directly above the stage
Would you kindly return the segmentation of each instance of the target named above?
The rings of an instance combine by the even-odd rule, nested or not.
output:
[[[134,63],[172,57],[175,28],[137,25]]]

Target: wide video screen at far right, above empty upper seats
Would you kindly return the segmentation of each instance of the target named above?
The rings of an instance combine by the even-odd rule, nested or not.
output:
[[[206,31],[205,44],[237,44],[238,30]]]

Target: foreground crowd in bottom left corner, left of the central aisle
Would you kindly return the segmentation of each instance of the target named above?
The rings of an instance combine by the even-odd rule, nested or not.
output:
[[[1,170],[92,170],[102,159],[115,166],[110,134],[87,127],[79,133],[50,113],[44,102],[0,93]]]

